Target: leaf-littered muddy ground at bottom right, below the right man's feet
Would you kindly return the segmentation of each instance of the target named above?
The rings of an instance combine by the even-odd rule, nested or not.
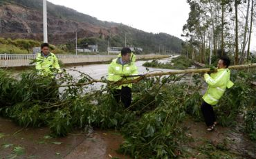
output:
[[[248,158],[256,156],[256,143],[249,140],[237,125],[234,128],[217,125],[214,131],[207,131],[203,122],[188,118],[184,122],[188,137],[192,140],[185,145],[194,158]]]

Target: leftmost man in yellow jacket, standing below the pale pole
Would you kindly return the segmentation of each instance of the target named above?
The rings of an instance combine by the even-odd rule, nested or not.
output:
[[[49,44],[41,45],[41,53],[37,53],[35,68],[40,75],[53,75],[54,71],[60,73],[58,59],[53,53],[50,53]]]

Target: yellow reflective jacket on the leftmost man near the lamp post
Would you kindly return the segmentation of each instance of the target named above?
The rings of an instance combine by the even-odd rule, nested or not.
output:
[[[53,70],[57,69],[60,73],[60,66],[57,57],[53,53],[44,56],[43,53],[37,53],[35,69],[40,75],[53,74]]]

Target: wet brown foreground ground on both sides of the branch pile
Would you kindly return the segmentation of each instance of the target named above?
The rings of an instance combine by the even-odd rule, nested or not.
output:
[[[256,143],[248,140],[239,127],[230,129],[218,125],[208,132],[203,122],[194,122],[191,118],[184,122],[184,127],[191,140],[183,145],[187,156],[181,152],[179,158],[251,159],[256,156]],[[129,158],[116,153],[123,141],[117,131],[75,130],[65,138],[51,138],[49,132],[47,127],[22,129],[0,118],[0,158]]]

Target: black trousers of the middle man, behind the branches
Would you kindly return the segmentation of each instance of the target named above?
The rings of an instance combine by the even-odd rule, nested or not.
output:
[[[122,86],[122,89],[114,90],[113,96],[115,97],[116,102],[120,102],[121,97],[121,101],[125,105],[125,108],[128,108],[131,105],[131,88],[128,86]]]

